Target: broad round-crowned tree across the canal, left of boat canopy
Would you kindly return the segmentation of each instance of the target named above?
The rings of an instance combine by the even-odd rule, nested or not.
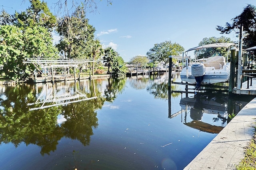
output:
[[[169,62],[170,55],[180,55],[183,51],[184,47],[182,47],[180,44],[165,41],[154,44],[154,47],[151,48],[146,55],[153,62],[156,61],[167,64]]]

